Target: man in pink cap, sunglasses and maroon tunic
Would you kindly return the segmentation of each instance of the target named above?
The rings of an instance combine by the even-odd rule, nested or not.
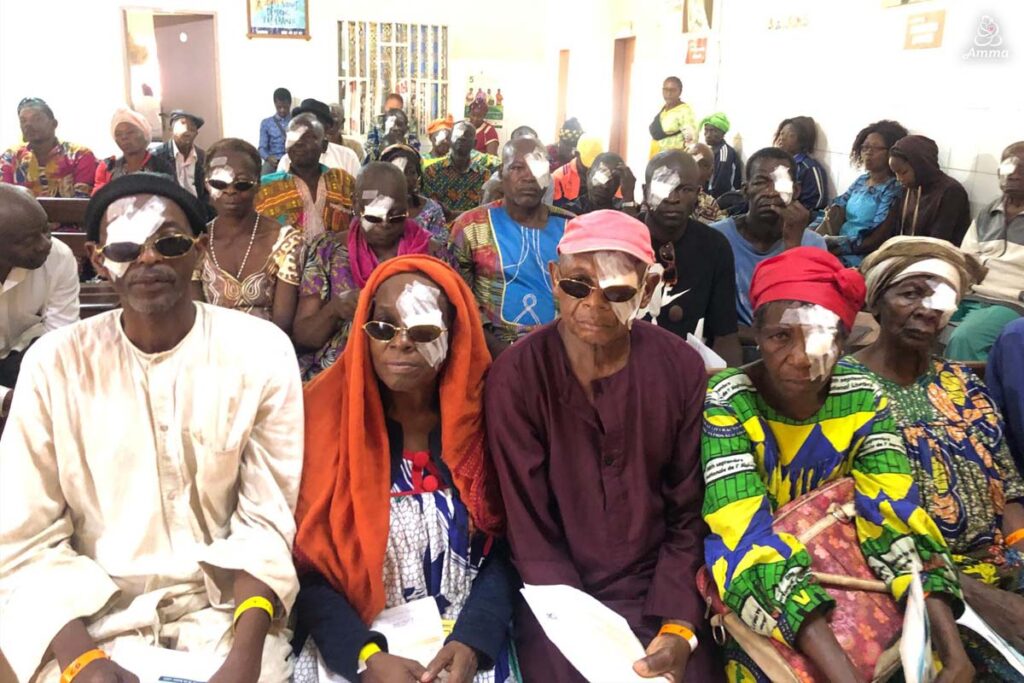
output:
[[[717,680],[694,577],[703,561],[695,351],[636,321],[657,284],[650,233],[618,211],[573,218],[549,272],[560,318],[487,377],[490,452],[525,584],[568,585],[624,616],[643,677]],[[517,614],[526,681],[583,681],[529,609]]]

